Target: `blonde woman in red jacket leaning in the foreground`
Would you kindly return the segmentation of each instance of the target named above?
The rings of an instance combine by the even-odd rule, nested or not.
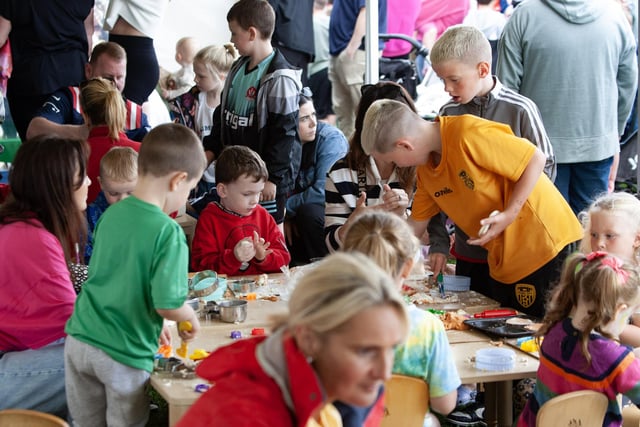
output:
[[[213,386],[178,425],[342,425],[336,400],[374,406],[367,421],[379,424],[381,389],[407,328],[388,274],[362,254],[328,256],[300,279],[269,337],[219,348],[198,366]]]

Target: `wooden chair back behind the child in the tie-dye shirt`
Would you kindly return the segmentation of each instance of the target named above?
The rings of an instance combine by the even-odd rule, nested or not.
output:
[[[393,374],[385,383],[381,427],[422,427],[429,410],[429,386],[420,378]]]

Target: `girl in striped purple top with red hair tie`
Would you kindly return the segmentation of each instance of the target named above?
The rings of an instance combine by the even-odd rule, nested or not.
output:
[[[640,360],[618,342],[640,307],[636,267],[606,252],[567,259],[536,336],[544,336],[536,388],[518,420],[535,426],[545,402],[563,393],[594,390],[609,399],[606,426],[622,425],[619,393],[640,403]]]

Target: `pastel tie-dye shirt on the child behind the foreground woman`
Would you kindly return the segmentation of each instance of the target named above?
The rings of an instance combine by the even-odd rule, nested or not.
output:
[[[408,313],[409,337],[396,350],[393,373],[422,378],[429,384],[429,396],[445,396],[460,386],[460,376],[444,325],[415,305]]]

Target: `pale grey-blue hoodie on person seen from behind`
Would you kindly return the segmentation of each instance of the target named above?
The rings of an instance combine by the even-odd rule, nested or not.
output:
[[[525,0],[502,33],[496,71],[538,105],[557,163],[619,151],[638,72],[631,26],[612,0]]]

